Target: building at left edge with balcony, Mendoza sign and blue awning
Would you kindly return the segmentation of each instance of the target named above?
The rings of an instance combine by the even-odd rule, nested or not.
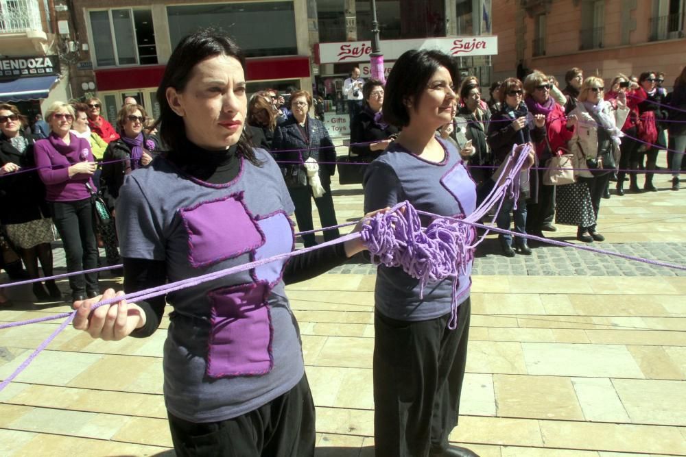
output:
[[[69,49],[60,30],[64,24],[47,2],[0,0],[0,103],[12,103],[32,119],[53,101],[71,97],[64,64]]]

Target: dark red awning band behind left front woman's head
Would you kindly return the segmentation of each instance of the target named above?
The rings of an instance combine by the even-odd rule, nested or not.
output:
[[[309,77],[309,57],[263,57],[246,60],[248,81],[261,79],[294,79]],[[95,70],[97,90],[127,90],[157,87],[165,72],[165,65],[146,65],[117,69]]]

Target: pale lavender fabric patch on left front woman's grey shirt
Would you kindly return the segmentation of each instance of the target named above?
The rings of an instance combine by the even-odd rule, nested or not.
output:
[[[264,234],[265,243],[255,251],[255,260],[269,258],[293,250],[293,226],[285,212],[279,211],[270,214],[268,217],[257,221],[257,225],[259,225],[260,230]],[[258,281],[267,281],[273,285],[281,280],[281,273],[286,262],[287,259],[283,259],[263,264],[255,268],[255,277]]]

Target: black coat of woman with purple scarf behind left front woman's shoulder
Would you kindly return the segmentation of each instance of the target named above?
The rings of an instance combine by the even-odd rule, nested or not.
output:
[[[154,140],[152,140],[150,136],[143,134],[143,151],[154,157],[155,152],[147,149],[145,146],[148,140],[151,140],[154,143]],[[124,176],[132,171],[129,161],[130,158],[131,147],[121,138],[110,141],[110,144],[107,145],[107,149],[105,149],[105,153],[102,156],[103,162],[117,160],[117,162],[113,163],[104,163],[102,165],[102,173],[100,174],[99,190],[110,210],[115,208],[117,197],[119,197],[119,188],[124,184]]]

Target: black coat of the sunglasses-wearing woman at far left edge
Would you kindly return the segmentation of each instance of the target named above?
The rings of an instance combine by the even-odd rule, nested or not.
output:
[[[0,134],[0,166],[12,162],[23,169],[35,168],[35,135],[26,136],[29,145],[24,153],[16,150],[10,138]],[[27,173],[8,173],[0,177],[0,223],[21,224],[50,217],[50,209],[45,201],[45,184],[36,171]]]

